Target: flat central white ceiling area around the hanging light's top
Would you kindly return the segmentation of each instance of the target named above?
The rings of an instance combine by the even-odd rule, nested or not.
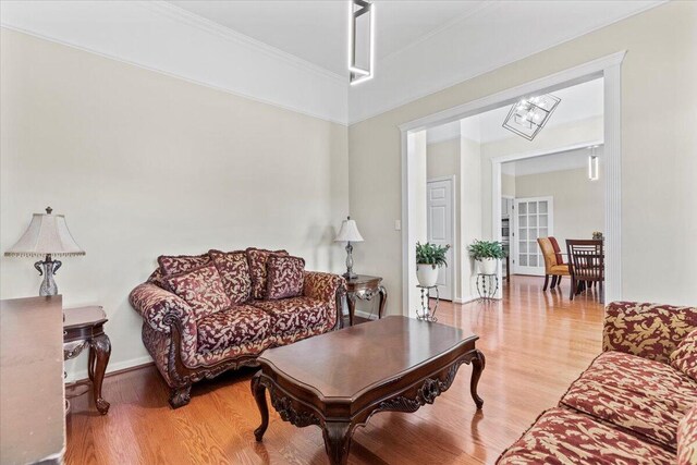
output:
[[[348,5],[341,0],[168,0],[342,76],[346,75]],[[376,2],[376,58],[383,59],[476,12],[486,2]]]

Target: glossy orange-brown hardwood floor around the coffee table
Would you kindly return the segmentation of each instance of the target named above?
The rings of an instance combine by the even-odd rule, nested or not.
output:
[[[484,409],[469,397],[472,368],[414,414],[381,413],[353,437],[350,464],[493,463],[600,353],[602,306],[592,294],[568,301],[568,282],[541,292],[542,278],[512,277],[502,302],[441,303],[441,322],[473,331],[487,357]],[[370,347],[365,347],[370,363]],[[262,443],[249,392],[254,369],[194,386],[173,411],[154,366],[107,377],[101,416],[85,386],[68,391],[69,464],[327,464],[320,429],[296,428],[271,409]]]

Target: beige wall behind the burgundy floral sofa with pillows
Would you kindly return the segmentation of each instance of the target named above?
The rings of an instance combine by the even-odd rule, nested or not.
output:
[[[0,249],[46,206],[66,216],[87,255],[57,282],[66,307],[103,305],[110,370],[148,359],[127,295],[160,254],[283,247],[343,269],[345,126],[4,28],[1,47]],[[38,293],[33,261],[0,258],[2,298]]]

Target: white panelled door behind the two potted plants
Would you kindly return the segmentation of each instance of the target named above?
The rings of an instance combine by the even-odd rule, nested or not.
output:
[[[450,245],[448,250],[448,267],[442,267],[438,273],[438,292],[440,298],[453,298],[453,181],[452,179],[428,181],[427,188],[427,222],[428,242],[438,245]]]

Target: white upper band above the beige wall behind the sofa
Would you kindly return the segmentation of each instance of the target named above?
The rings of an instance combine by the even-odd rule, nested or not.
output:
[[[341,76],[166,2],[3,1],[0,7],[4,28],[346,125],[348,85]]]

